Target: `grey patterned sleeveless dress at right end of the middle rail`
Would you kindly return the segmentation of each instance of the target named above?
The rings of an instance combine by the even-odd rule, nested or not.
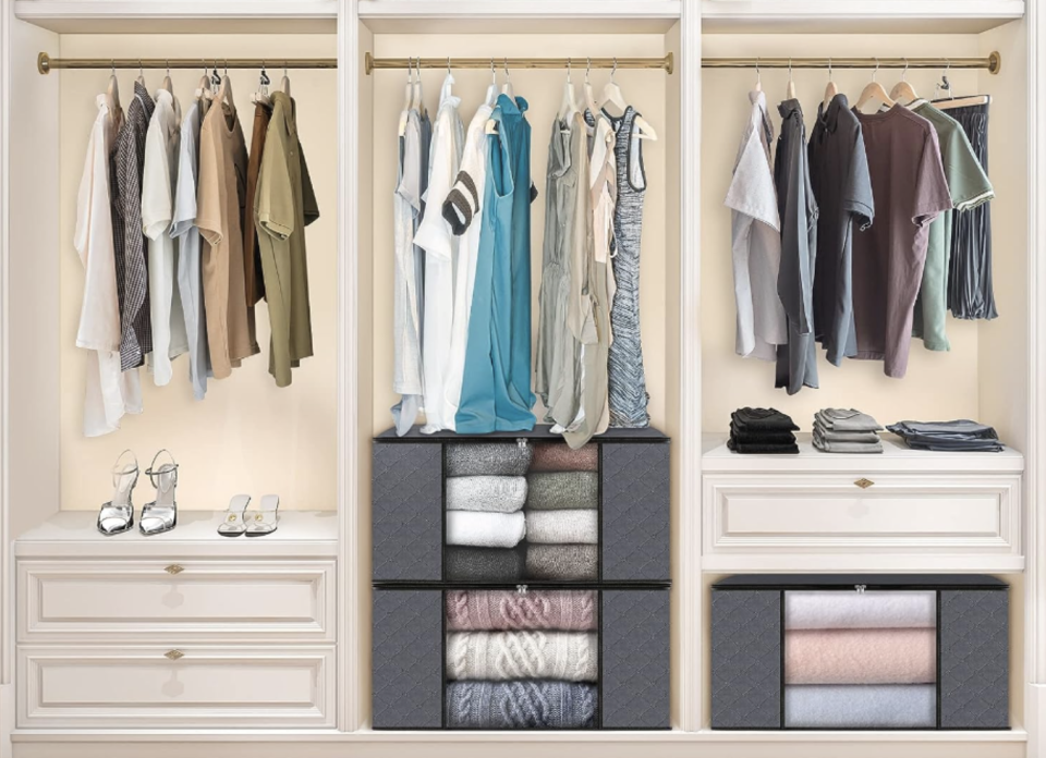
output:
[[[646,197],[643,143],[635,126],[640,114],[632,106],[620,117],[604,113],[613,126],[618,170],[612,258],[617,294],[610,308],[610,426],[642,429],[650,425],[650,395],[646,391],[640,334],[640,242]]]

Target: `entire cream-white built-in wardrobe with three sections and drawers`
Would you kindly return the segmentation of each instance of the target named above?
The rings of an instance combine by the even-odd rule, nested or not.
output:
[[[795,756],[1046,758],[1046,14],[1029,0],[2,0],[0,15],[0,756]],[[995,288],[1000,317],[949,321],[952,350],[913,345],[908,377],[824,366],[822,389],[774,390],[733,353],[730,215],[722,199],[752,69],[703,58],[1001,56],[954,68],[993,96]],[[337,60],[288,73],[319,201],[308,228],[315,357],[276,390],[266,358],[212,382],[145,389],[145,413],[82,435],[74,338],[83,270],[76,192],[109,71],[41,75],[38,56],[199,59],[171,72],[183,107],[205,63]],[[641,310],[652,425],[672,440],[670,731],[381,732],[370,710],[370,439],[391,425],[392,188],[406,74],[374,58],[661,58],[617,82],[659,135]],[[138,72],[118,72],[130,98]],[[155,89],[162,71],[144,72]],[[941,70],[913,70],[932,93]],[[854,99],[868,70],[836,70]],[[233,71],[250,131],[256,71]],[[445,72],[424,70],[430,109]],[[489,71],[454,72],[467,120]],[[499,77],[503,75],[498,72]],[[609,72],[593,70],[600,88]],[[531,106],[544,186],[564,72],[510,71]],[[887,88],[897,70],[880,71]],[[770,103],[788,73],[762,71]],[[826,72],[793,72],[804,111]],[[771,108],[773,111],[773,108]],[[812,117],[807,115],[807,129]],[[544,203],[533,209],[539,270]],[[534,277],[535,296],[539,278]],[[536,309],[535,309],[536,318]],[[259,341],[268,341],[259,310]],[[148,382],[144,382],[148,383]],[[880,421],[977,418],[1011,451],[990,460],[890,455],[866,464],[723,454],[730,411],[860,407]],[[178,528],[104,538],[95,517],[117,455],[170,449]],[[1043,476],[1041,476],[1043,475]],[[856,481],[872,481],[862,487]],[[278,492],[269,538],[215,533],[236,492]],[[137,496],[141,504],[145,496]],[[811,503],[819,503],[814,508]],[[1010,590],[1011,729],[998,732],[717,732],[710,729],[710,587],[741,572],[969,572]]]

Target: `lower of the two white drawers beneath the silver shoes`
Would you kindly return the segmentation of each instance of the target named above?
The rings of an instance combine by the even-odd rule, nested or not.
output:
[[[332,728],[327,648],[19,648],[22,729]]]

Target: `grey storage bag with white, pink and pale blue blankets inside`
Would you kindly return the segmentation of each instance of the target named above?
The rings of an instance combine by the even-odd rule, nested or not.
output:
[[[1008,729],[1008,589],[978,575],[722,579],[711,725]]]

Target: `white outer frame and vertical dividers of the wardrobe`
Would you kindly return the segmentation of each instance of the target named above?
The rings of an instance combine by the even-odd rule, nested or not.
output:
[[[12,20],[15,5],[20,12],[37,11],[39,17],[50,14],[51,19],[65,20],[71,28],[84,24],[85,30],[94,30],[94,24],[105,24],[113,16],[134,17],[139,23],[151,21],[193,19],[243,19],[254,17],[301,19],[314,14],[336,12],[338,20],[339,73],[338,97],[340,99],[340,121],[338,126],[339,151],[338,184],[339,207],[339,273],[338,273],[338,314],[340,323],[338,337],[338,506],[339,506],[339,624],[338,624],[338,683],[337,708],[338,731],[315,734],[282,732],[279,734],[223,733],[210,734],[206,731],[181,732],[180,734],[129,735],[127,733],[99,735],[94,741],[126,741],[142,748],[141,742],[157,743],[150,753],[160,747],[160,743],[223,743],[231,750],[242,745],[242,755],[262,755],[256,753],[259,743],[280,743],[292,747],[299,755],[333,755],[333,750],[343,751],[346,743],[360,745],[362,754],[378,743],[399,744],[403,751],[413,746],[418,755],[436,755],[438,745],[453,749],[454,745],[496,742],[498,749],[510,750],[510,743],[522,743],[521,755],[533,750],[538,744],[559,744],[565,746],[593,744],[605,747],[606,755],[613,750],[612,743],[628,751],[652,749],[657,754],[657,744],[689,743],[688,751],[697,750],[698,755],[741,755],[726,753],[730,747],[749,746],[753,753],[759,746],[770,748],[759,755],[810,755],[808,749],[816,744],[830,743],[837,750],[846,750],[851,742],[839,733],[720,733],[701,731],[703,712],[703,659],[705,638],[704,611],[702,608],[701,572],[701,329],[700,256],[693,254],[700,249],[700,223],[697,210],[701,195],[701,86],[702,86],[702,11],[720,10],[730,3],[722,0],[341,0],[340,2],[292,0],[243,0],[215,2],[180,2],[179,0],[151,0],[145,2],[117,2],[113,0],[81,0],[77,2],[57,2],[46,0],[0,0],[0,758],[11,755],[10,732],[13,728],[13,592],[11,540],[17,535],[11,534],[10,512],[12,508],[10,491],[10,461],[13,445],[19,440],[9,433],[8,418],[13,403],[11,377],[19,370],[11,363],[9,352],[10,335],[17,328],[17,315],[9,309],[10,292],[17,282],[11,281],[10,261],[17,250],[11,244],[11,198],[17,187],[12,184],[11,155],[19,149],[11,144],[11,102],[12,82],[15,76],[37,74],[27,73],[31,62],[13,59]],[[756,3],[767,5],[764,1]],[[800,13],[825,12],[830,0],[775,0],[774,9],[781,13],[782,7],[791,5]],[[861,0],[853,5],[865,9],[869,16],[879,20],[886,17],[892,8],[905,17],[920,12],[933,16],[939,12],[940,0],[911,0],[881,10],[887,3]],[[963,9],[974,15],[977,11],[986,13],[989,7],[1012,5],[1011,0],[962,0]],[[787,9],[786,9],[787,10]],[[678,650],[674,660],[678,665],[673,684],[673,713],[680,728],[672,732],[656,733],[534,733],[521,736],[519,733],[376,733],[365,730],[362,714],[368,710],[369,690],[364,686],[368,680],[363,669],[368,665],[365,641],[369,635],[361,627],[361,611],[369,603],[369,596],[361,588],[361,572],[369,572],[369,557],[361,553],[361,535],[369,529],[361,514],[367,512],[363,502],[361,477],[366,478],[369,456],[369,433],[361,429],[360,398],[361,372],[369,370],[362,365],[358,353],[357,332],[361,328],[357,304],[358,292],[370,286],[369,281],[361,281],[360,258],[362,250],[355,230],[360,228],[357,200],[361,164],[358,126],[367,113],[361,109],[361,77],[364,75],[362,36],[367,34],[361,13],[374,14],[388,12],[396,17],[411,15],[438,15],[441,19],[459,20],[484,19],[679,19],[680,51],[676,59],[681,76],[680,113],[685,129],[680,136],[680,328],[679,350],[679,408],[682,433],[673,440],[678,460],[686,465],[677,466],[678,502],[674,503],[679,519],[673,536],[677,575],[673,577],[673,615],[680,621],[677,628]],[[302,15],[299,15],[302,14]],[[1025,720],[1027,732],[1026,756],[1046,758],[1046,516],[1038,513],[1043,501],[1043,488],[1046,487],[1046,262],[1038,256],[1046,254],[1046,10],[1037,0],[1026,3],[1025,24],[1027,29],[1027,240],[1029,240],[1029,365],[1027,398],[1025,399],[1030,418],[1029,443],[1023,451],[1026,460],[1025,473],[1025,537],[1026,558],[1024,579],[1024,668],[1015,670],[1013,676],[1021,676],[1025,683]],[[179,30],[165,27],[165,32]],[[288,30],[293,30],[290,27]],[[364,190],[365,191],[365,190]],[[1043,219],[1041,222],[1039,219]],[[691,255],[686,255],[691,252]],[[363,614],[366,618],[366,614]],[[75,742],[76,737],[71,738]],[[977,733],[959,737],[935,733],[884,733],[883,736],[868,737],[867,733],[854,735],[853,742],[878,745],[880,748],[890,742],[925,742],[956,744],[978,742]],[[410,743],[411,745],[408,745]],[[644,743],[650,746],[645,747]],[[990,750],[989,741],[985,749]],[[327,746],[327,747],[324,747]],[[805,747],[804,747],[805,746]],[[327,749],[329,748],[329,750]],[[193,749],[193,748],[183,748]],[[573,748],[564,748],[573,749]],[[947,749],[942,746],[942,749]],[[216,750],[217,753],[217,750]],[[155,753],[160,755],[159,751]],[[174,751],[170,755],[177,754]],[[233,755],[231,751],[222,755]],[[842,753],[837,753],[843,755]],[[34,754],[44,755],[44,754]],[[163,755],[167,755],[166,753]],[[210,754],[208,754],[210,755]],[[266,754],[267,755],[267,754]],[[389,754],[391,755],[391,754]],[[448,754],[449,755],[449,754]],[[744,755],[752,755],[745,753]],[[817,755],[823,755],[818,753]],[[863,754],[862,754],[863,755]],[[938,753],[935,755],[946,755]],[[984,755],[990,755],[985,753]]]

